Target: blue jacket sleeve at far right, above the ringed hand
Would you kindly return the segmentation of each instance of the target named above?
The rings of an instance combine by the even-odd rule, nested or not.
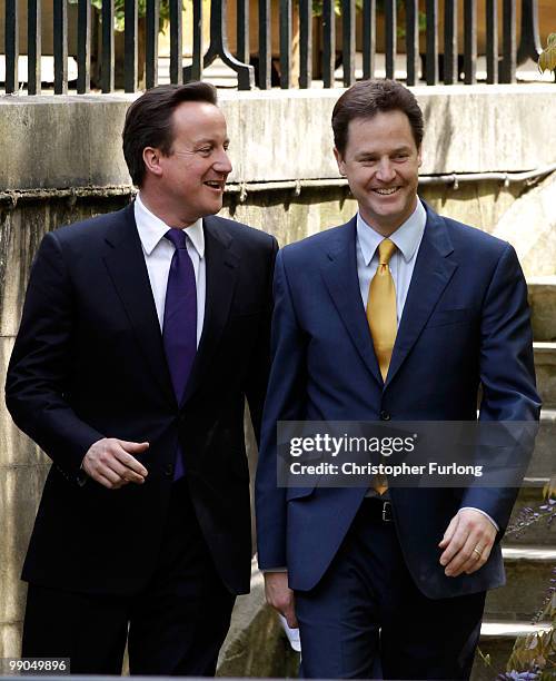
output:
[[[483,385],[479,420],[532,422],[532,428],[524,428],[524,442],[519,447],[525,468],[533,454],[540,398],[535,387],[527,284],[509,244],[497,263],[485,296],[479,363]],[[500,539],[517,493],[517,487],[470,487],[461,506],[474,506],[487,513],[500,529]]]

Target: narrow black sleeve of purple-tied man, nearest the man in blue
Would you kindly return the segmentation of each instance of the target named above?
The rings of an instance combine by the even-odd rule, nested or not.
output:
[[[265,307],[261,326],[257,338],[256,349],[251,358],[245,394],[249,404],[252,430],[257,445],[260,446],[260,424],[262,407],[267,393],[268,374],[270,369],[270,320],[272,317],[272,277],[275,270],[278,243],[271,237],[271,247],[268,256],[268,278],[265,289]]]

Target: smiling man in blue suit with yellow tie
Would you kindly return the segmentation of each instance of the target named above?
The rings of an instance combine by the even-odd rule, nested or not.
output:
[[[284,248],[257,472],[268,602],[299,623],[304,675],[465,679],[517,488],[277,485],[279,421],[535,421],[514,249],[417,197],[423,115],[394,81],[332,114],[346,225]]]

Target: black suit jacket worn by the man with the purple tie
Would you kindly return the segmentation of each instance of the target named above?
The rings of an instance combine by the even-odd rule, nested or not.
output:
[[[157,566],[178,440],[222,582],[249,591],[244,440],[258,435],[269,367],[274,237],[203,218],[205,323],[180,404],[172,389],[133,206],[49,233],[32,267],[6,384],[18,426],[52,458],[23,579],[128,595]],[[143,485],[113,491],[80,470],[101,437],[149,442]],[[83,484],[85,483],[85,484]]]

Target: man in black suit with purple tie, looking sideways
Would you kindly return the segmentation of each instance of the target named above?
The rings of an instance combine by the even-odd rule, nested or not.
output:
[[[6,386],[52,458],[22,578],[24,657],[73,673],[212,675],[249,591],[247,397],[258,435],[269,365],[267,234],[222,206],[226,120],[208,83],[128,110],[139,195],[47,234]],[[129,635],[128,635],[129,629]]]

